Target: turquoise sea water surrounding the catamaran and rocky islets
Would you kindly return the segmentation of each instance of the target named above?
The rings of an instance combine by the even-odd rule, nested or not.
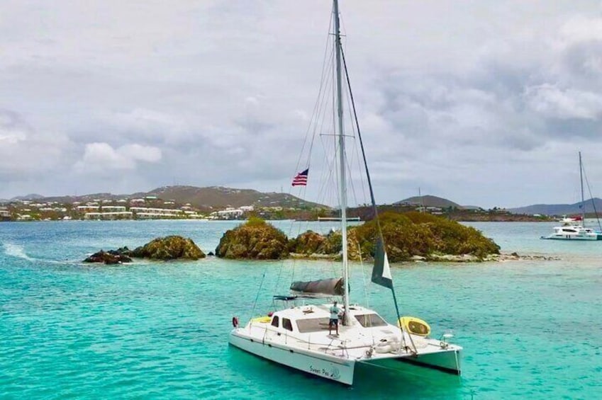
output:
[[[401,376],[359,367],[349,388],[228,346],[233,314],[262,314],[291,275],[330,275],[333,264],[84,265],[100,248],[167,234],[211,251],[235,223],[0,224],[0,398],[599,398],[602,242],[538,239],[553,225],[472,224],[503,251],[558,260],[395,265],[402,314],[426,319],[437,335],[453,329],[465,350],[462,379],[409,365]],[[352,300],[393,321],[389,292],[362,288],[369,266],[351,273]]]

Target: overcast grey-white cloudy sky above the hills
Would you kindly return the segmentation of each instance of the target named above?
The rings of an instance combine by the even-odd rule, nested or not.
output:
[[[289,191],[331,6],[1,1],[0,198]],[[576,202],[579,151],[602,197],[601,1],[340,9],[377,202]]]

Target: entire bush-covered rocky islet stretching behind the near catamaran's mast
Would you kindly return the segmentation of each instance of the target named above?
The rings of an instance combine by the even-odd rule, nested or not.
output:
[[[409,261],[415,257],[442,260],[441,256],[464,255],[472,256],[467,260],[478,261],[491,254],[499,254],[499,246],[494,241],[478,230],[450,219],[419,212],[385,212],[379,216],[379,222],[386,252],[392,263]],[[282,231],[271,224],[252,218],[223,234],[216,248],[216,256],[275,260],[292,253],[303,258],[337,258],[342,249],[341,236],[340,232],[330,232],[324,236],[307,231],[288,240]],[[377,238],[375,219],[349,228],[347,249],[350,260],[372,258]]]

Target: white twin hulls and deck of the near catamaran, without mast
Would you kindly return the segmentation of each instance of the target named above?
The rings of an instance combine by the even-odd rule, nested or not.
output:
[[[325,307],[312,308],[311,314],[306,314],[308,307],[294,307],[274,314],[274,319],[290,317],[292,331],[283,329],[281,325],[273,326],[271,322],[274,319],[256,319],[245,327],[234,328],[229,342],[267,360],[349,385],[353,384],[356,362],[389,370],[403,370],[403,364],[410,363],[460,375],[461,347],[421,336],[410,337],[396,326],[340,326],[340,336],[330,335],[328,329],[300,333],[298,324],[308,315],[320,312],[328,315]],[[360,316],[369,312],[359,306],[355,306],[353,311]],[[352,316],[355,318],[355,314]],[[412,343],[412,350],[401,345],[402,335],[406,343]],[[394,342],[381,340],[391,338],[396,339]]]

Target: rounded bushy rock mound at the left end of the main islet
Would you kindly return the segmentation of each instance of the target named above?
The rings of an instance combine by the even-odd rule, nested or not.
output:
[[[251,218],[223,234],[216,256],[234,259],[278,260],[289,256],[288,239],[263,219]]]

